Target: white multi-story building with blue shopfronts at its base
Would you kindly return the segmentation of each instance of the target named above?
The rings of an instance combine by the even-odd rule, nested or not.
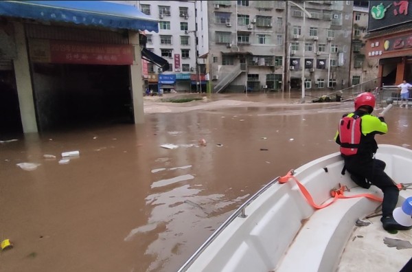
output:
[[[196,1],[118,1],[135,5],[159,20],[159,33],[146,32],[146,48],[169,62],[168,71],[143,61],[146,87],[152,91],[193,91],[203,86],[197,52]],[[196,77],[197,75],[197,77]],[[200,76],[200,77],[199,77]],[[202,84],[201,80],[202,79]]]

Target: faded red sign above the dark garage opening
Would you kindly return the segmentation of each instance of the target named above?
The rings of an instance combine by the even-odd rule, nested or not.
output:
[[[52,63],[132,65],[135,56],[133,45],[50,41],[50,59]]]

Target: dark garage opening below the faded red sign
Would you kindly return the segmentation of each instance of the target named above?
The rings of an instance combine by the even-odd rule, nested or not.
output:
[[[39,131],[130,123],[128,65],[32,64]]]

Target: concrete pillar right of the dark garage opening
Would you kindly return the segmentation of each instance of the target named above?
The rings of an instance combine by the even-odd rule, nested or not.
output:
[[[129,43],[133,45],[135,49],[135,60],[133,61],[133,65],[130,65],[130,88],[133,99],[133,114],[135,117],[135,124],[144,124],[144,82],[141,79],[141,52],[138,32],[129,31]]]

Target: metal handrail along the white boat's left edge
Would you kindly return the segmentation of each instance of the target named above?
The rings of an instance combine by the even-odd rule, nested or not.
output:
[[[192,265],[192,263],[198,258],[198,256],[201,255],[201,253],[203,251],[205,251],[205,249],[207,248],[207,246],[209,246],[211,244],[211,242],[213,242],[216,237],[233,221],[236,219],[236,217],[241,217],[241,218],[246,218],[247,214],[246,214],[246,207],[249,206],[250,203],[252,203],[252,201],[254,201],[255,199],[258,198],[258,196],[260,196],[260,194],[262,194],[264,191],[268,190],[268,188],[270,188],[273,184],[277,183],[277,181],[279,180],[280,177],[277,177],[276,179],[273,179],[271,182],[267,183],[266,185],[264,185],[264,187],[262,187],[258,192],[256,192],[255,194],[253,194],[253,196],[251,196],[250,199],[248,199],[247,201],[245,201],[242,205],[240,205],[240,207],[238,207],[238,209],[236,209],[235,212],[233,212],[233,214],[231,214],[231,216],[229,216],[229,218],[227,218],[227,220],[225,220],[224,223],[222,223],[222,225],[220,225],[220,227],[218,227],[218,229],[216,229],[216,231],[214,231],[213,234],[211,234],[211,236],[209,236],[209,238],[207,238],[207,240],[203,243],[203,245],[201,245],[201,247],[198,248],[198,250],[196,250],[196,252],[189,258],[189,260],[187,260],[185,262],[185,264],[183,264],[183,266],[177,271],[177,272],[183,272],[186,271],[187,269],[189,269],[190,265]]]

